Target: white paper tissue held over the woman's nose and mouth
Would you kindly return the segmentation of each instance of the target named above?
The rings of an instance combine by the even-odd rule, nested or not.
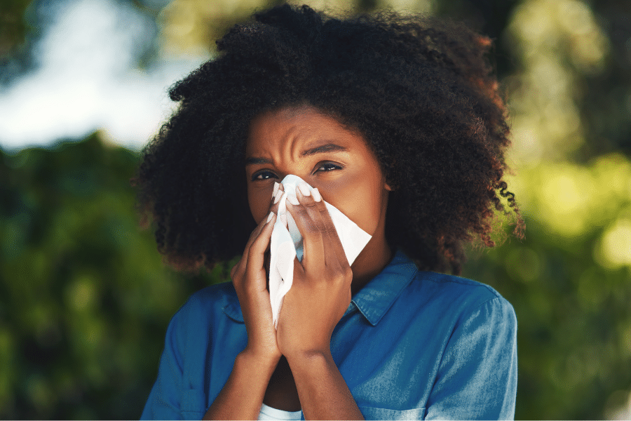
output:
[[[300,262],[302,261],[302,236],[294,218],[287,212],[285,204],[288,195],[296,197],[296,188],[301,181],[304,182],[297,175],[290,174],[280,182],[284,192],[283,196],[280,197],[280,203],[278,203],[278,216],[272,230],[269,262],[269,299],[274,327],[278,327],[278,315],[280,314],[280,307],[283,306],[283,298],[292,287],[294,258],[297,257]],[[308,185],[307,182],[305,184]],[[311,190],[313,187],[309,186],[309,191]],[[353,265],[355,258],[372,236],[348,219],[338,208],[326,201],[324,203],[344,248],[348,265]]]

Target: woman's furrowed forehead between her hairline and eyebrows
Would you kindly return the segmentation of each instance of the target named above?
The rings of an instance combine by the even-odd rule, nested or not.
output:
[[[332,116],[304,106],[264,112],[252,119],[246,152],[272,152],[325,141],[344,147],[365,147],[362,135],[345,128]]]

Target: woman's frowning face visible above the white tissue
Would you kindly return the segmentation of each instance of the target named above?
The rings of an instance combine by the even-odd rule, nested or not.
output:
[[[371,243],[383,241],[391,188],[364,138],[337,120],[313,107],[261,114],[250,124],[245,157],[247,200],[257,224],[269,214],[274,182],[294,174],[376,237]]]

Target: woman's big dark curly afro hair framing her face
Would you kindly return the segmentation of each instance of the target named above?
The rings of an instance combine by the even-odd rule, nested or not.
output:
[[[523,235],[503,180],[509,128],[489,38],[449,20],[342,19],[285,4],[235,25],[217,47],[170,89],[179,109],[133,179],[170,265],[210,269],[243,253],[256,226],[244,177],[250,121],[292,105],[363,135],[393,187],[386,239],[419,268],[460,274],[464,243],[494,246],[494,209],[510,214],[499,196]]]

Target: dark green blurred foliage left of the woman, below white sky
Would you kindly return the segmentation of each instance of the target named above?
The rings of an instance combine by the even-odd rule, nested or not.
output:
[[[56,149],[0,156],[0,417],[137,418],[170,317],[228,272],[165,269],[137,154],[98,135]]]

